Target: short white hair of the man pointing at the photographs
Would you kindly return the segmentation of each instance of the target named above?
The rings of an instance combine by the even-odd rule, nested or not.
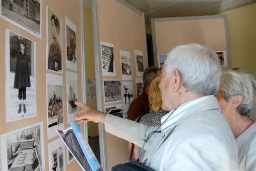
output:
[[[199,44],[176,46],[167,55],[164,66],[169,75],[173,68],[181,73],[183,86],[201,96],[215,95],[220,85],[221,67],[216,53]]]

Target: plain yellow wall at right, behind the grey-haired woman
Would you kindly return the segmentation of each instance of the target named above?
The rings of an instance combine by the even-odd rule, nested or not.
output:
[[[256,4],[220,13],[227,15],[232,67],[256,77]],[[251,111],[256,120],[256,105]]]

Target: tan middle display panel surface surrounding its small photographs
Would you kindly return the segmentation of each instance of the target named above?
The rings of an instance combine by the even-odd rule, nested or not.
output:
[[[121,101],[113,103],[104,102],[104,86],[103,80],[120,80],[121,81],[121,96],[123,96],[122,84],[124,82],[132,82],[133,87],[133,98],[136,95],[136,78],[142,78],[142,75],[138,76],[136,73],[136,57],[135,50],[142,51],[143,53],[143,64],[144,68],[147,67],[147,50],[145,41],[145,22],[144,14],[136,9],[133,9],[127,5],[124,1],[96,1],[96,17],[97,17],[97,28],[94,31],[97,32],[98,44],[95,49],[98,49],[98,56],[95,58],[99,59],[99,63],[95,63],[95,67],[99,67],[100,78],[96,79],[96,84],[100,85],[100,89],[97,89],[97,107],[98,110],[104,111],[105,107],[113,105],[123,105],[123,98]],[[95,9],[94,9],[95,12]],[[115,75],[106,76],[103,75],[102,71],[102,56],[101,56],[101,42],[113,44],[114,49],[114,67]],[[121,56],[120,50],[130,52],[131,57],[131,80],[122,79],[121,70]],[[97,71],[97,69],[96,69]],[[96,76],[97,78],[97,76]],[[98,93],[101,96],[98,96]],[[101,105],[102,104],[102,105]],[[123,105],[124,109],[124,105]],[[105,133],[105,151],[106,151],[106,165],[107,170],[111,170],[113,165],[122,163],[129,159],[130,151],[128,149],[128,142],[119,139],[113,135]],[[102,154],[101,150],[101,156]],[[102,161],[101,161],[102,163]]]

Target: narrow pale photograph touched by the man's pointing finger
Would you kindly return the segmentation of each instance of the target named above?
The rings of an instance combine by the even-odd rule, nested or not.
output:
[[[78,100],[77,73],[67,71],[67,96],[68,96],[68,123],[75,121],[78,107],[75,102]]]

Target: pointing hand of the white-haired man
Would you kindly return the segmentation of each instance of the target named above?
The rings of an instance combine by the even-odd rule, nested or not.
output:
[[[76,120],[79,120],[81,122],[92,121],[95,123],[98,123],[98,122],[104,123],[105,122],[106,113],[94,110],[81,102],[75,102],[75,104],[77,106],[79,106],[80,108],[82,108],[77,113]]]

